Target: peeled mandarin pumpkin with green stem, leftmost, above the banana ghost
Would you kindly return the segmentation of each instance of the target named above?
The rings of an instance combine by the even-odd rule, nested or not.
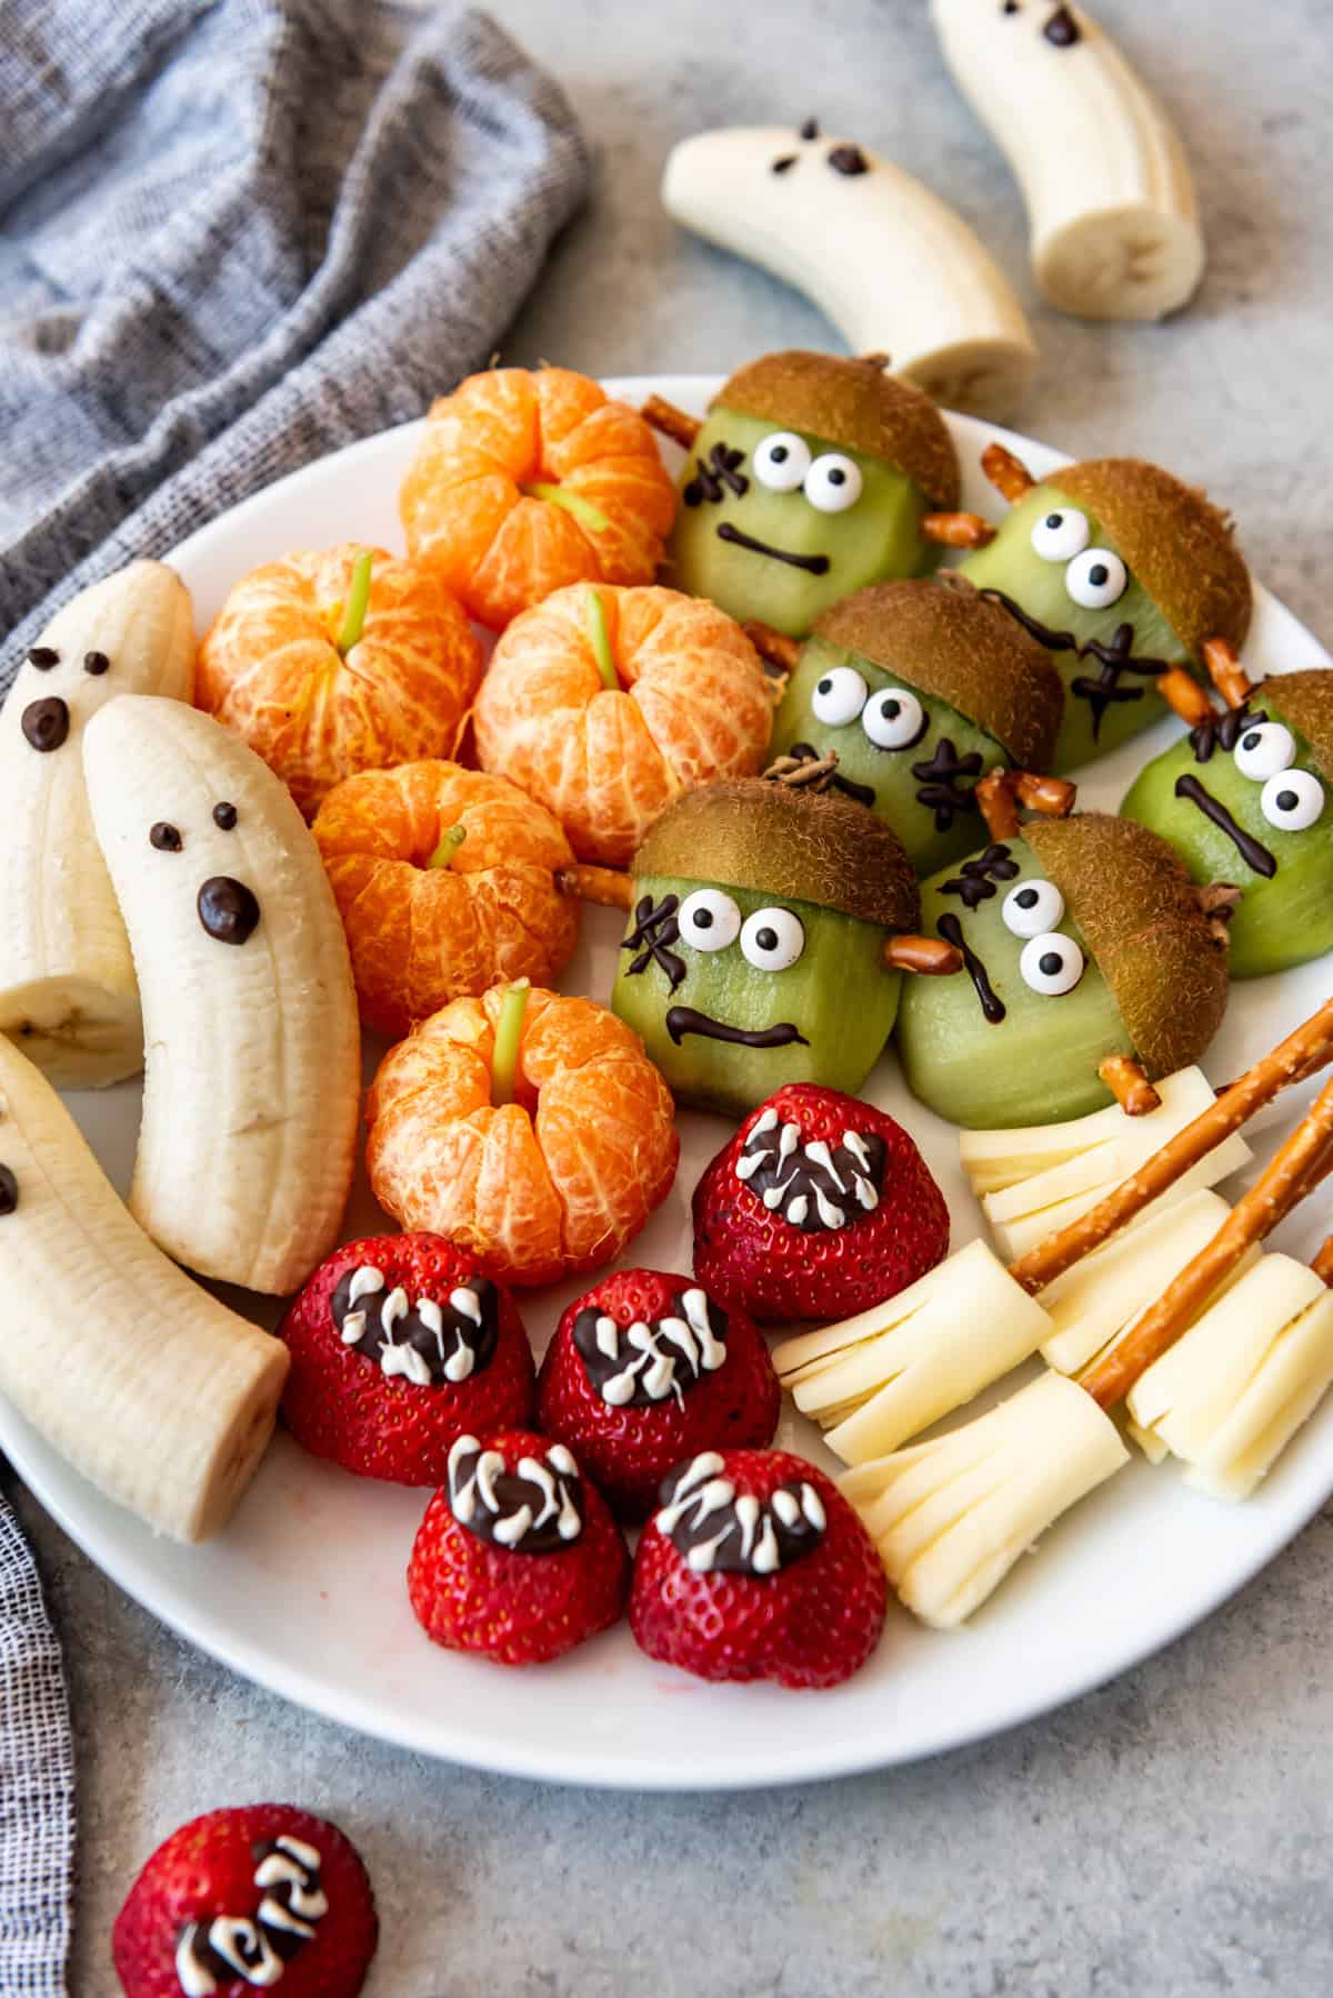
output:
[[[306,817],[362,769],[452,755],[482,647],[440,577],[370,549],[360,635],[338,647],[358,555],[300,551],[252,569],[198,655],[194,699],[278,771]]]

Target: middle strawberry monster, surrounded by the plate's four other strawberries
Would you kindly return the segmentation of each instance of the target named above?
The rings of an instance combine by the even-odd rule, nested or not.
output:
[[[749,1317],[656,1269],[616,1271],[570,1305],[538,1375],[538,1425],[630,1520],[681,1457],[771,1443],[779,1405]]]

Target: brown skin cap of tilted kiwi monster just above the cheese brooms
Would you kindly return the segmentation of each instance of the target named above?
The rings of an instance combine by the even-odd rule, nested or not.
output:
[[[1023,839],[1065,897],[1149,1081],[1189,1067],[1227,1009],[1227,953],[1183,861],[1133,819],[1033,819]]]

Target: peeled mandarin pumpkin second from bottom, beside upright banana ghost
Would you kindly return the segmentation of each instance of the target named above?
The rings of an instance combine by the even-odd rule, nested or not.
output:
[[[580,905],[560,821],[504,777],[458,763],[364,771],[328,793],[314,837],[352,951],[362,1021],[404,1035],[502,979],[548,983]]]

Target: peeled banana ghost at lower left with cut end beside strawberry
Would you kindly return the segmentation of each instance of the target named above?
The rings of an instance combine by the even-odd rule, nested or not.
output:
[[[4,1039],[0,1167],[0,1393],[154,1532],[208,1538],[268,1447],[286,1347],[154,1249]]]

